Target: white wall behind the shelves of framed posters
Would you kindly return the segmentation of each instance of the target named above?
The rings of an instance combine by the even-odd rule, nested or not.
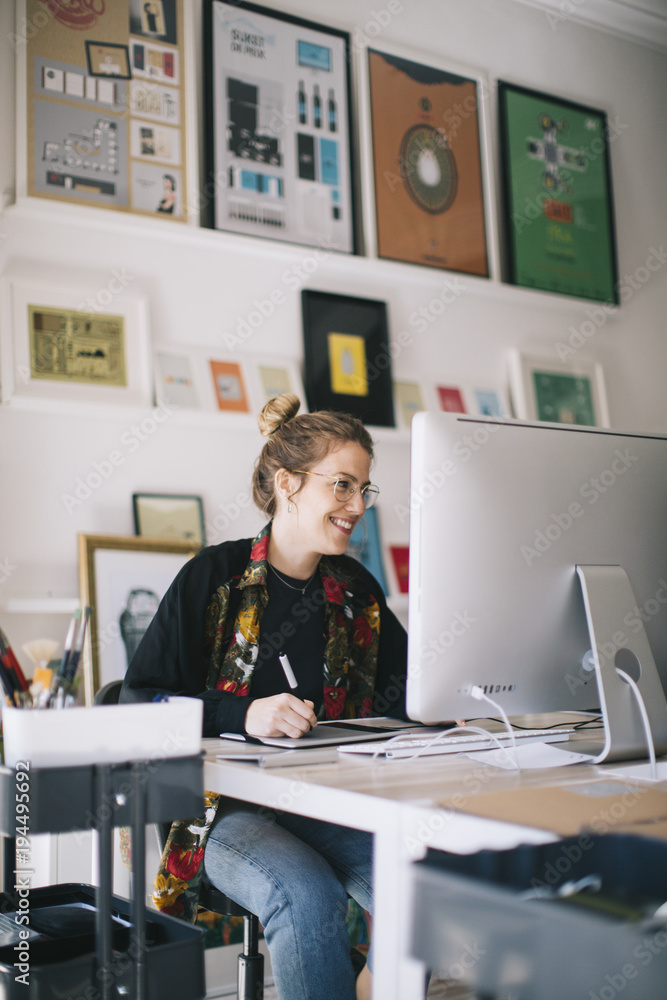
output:
[[[293,0],[274,3],[373,42],[478,69],[604,108],[619,125],[611,147],[620,275],[639,279],[637,291],[591,338],[587,353],[603,365],[614,426],[667,430],[663,389],[667,370],[664,314],[667,268],[645,269],[652,248],[667,242],[664,177],[667,141],[664,94],[667,54],[627,39],[562,20],[513,0],[402,0],[401,12],[377,32],[383,0]],[[394,3],[393,9],[396,10]],[[386,18],[382,18],[387,20]],[[19,26],[20,27],[20,26]],[[0,4],[0,191],[14,188],[11,4]],[[497,162],[495,95],[491,159]],[[495,181],[495,178],[492,178]],[[494,222],[494,220],[491,220]],[[146,295],[154,343],[205,344],[221,349],[225,333],[278,288],[286,302],[247,342],[250,354],[301,355],[299,290],[284,275],[311,251],[230,234],[198,231],[168,220],[120,219],[112,212],[33,202],[0,219],[3,272],[59,281],[86,293],[105,288],[112,272],[131,280],[127,293]],[[641,270],[641,269],[644,270]],[[640,270],[638,270],[640,269]],[[647,280],[648,279],[648,280]],[[410,317],[440,295],[444,282],[459,293],[424,333]],[[413,343],[395,372],[436,379],[505,379],[508,348],[556,357],[556,345],[579,329],[594,307],[565,297],[530,293],[497,280],[457,278],[446,272],[332,255],[307,287],[385,299],[392,335],[407,330]],[[123,441],[148,413],[108,409],[52,413],[0,407],[0,623],[18,648],[28,638],[62,638],[62,617],[7,614],[11,598],[77,593],[76,534],[131,534],[135,491],[193,492],[204,498],[210,521],[230,504],[242,507],[261,439],[224,420],[175,415],[131,450]],[[376,480],[383,496],[385,542],[407,541],[407,522],[395,505],[408,497],[408,443],[381,432]],[[95,470],[111,451],[123,463],[72,510],[63,493]],[[239,504],[239,500],[241,504]],[[254,532],[260,518],[245,507],[210,541]],[[224,523],[224,519],[219,521]],[[3,568],[4,567],[4,568]]]

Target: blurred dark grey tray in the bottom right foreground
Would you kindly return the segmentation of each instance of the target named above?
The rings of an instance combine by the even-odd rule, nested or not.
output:
[[[558,896],[589,876],[599,890]],[[414,864],[412,954],[478,994],[665,1000],[667,918],[652,914],[666,900],[662,840],[582,834],[508,851],[429,851]]]

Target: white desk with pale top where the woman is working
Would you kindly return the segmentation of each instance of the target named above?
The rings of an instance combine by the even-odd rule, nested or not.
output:
[[[464,809],[467,797],[483,791],[559,784],[562,768],[518,774],[481,768],[455,754],[396,762],[350,754],[331,763],[260,768],[216,760],[222,741],[204,743],[208,790],[374,834],[376,1000],[423,998],[423,968],[408,953],[409,861],[422,857],[427,847],[466,854],[556,839],[544,830],[448,812],[434,803],[458,795]],[[592,765],[577,765],[568,768],[567,778],[586,781],[597,773]]]

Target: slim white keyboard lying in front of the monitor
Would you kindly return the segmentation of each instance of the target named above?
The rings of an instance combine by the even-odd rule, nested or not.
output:
[[[496,750],[498,744],[485,736],[477,733],[463,732],[457,735],[456,730],[443,730],[451,735],[442,736],[437,743],[432,740],[436,736],[409,736],[405,739],[397,739],[391,743],[346,743],[339,746],[340,753],[377,753],[387,758],[411,757],[418,750],[420,756],[428,754],[443,753],[470,753],[473,750]],[[570,738],[570,734],[576,732],[573,726],[562,726],[558,729],[517,729],[513,736],[517,743],[526,746],[529,743],[564,743]],[[506,729],[493,734],[502,746],[511,746],[511,736]]]

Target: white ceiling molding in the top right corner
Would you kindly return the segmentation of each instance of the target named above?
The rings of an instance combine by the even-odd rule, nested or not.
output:
[[[567,21],[667,52],[667,4],[661,0],[515,0],[544,12],[552,30]],[[660,9],[662,8],[662,10]]]

